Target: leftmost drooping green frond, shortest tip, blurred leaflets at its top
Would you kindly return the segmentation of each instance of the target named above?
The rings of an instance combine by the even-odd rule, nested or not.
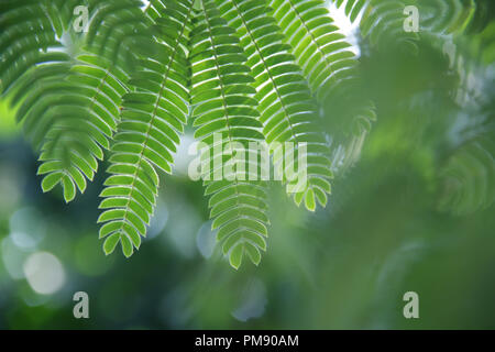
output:
[[[92,9],[94,14],[89,23],[90,33],[96,33],[98,37],[97,41],[88,41],[87,50],[107,55],[87,53],[76,61],[68,56],[81,52],[79,34],[69,26],[76,2],[62,3],[57,0],[51,2],[51,7],[47,3],[42,3],[45,12],[38,13],[41,21],[52,23],[57,37],[67,31],[63,40],[65,45],[56,50],[50,47],[47,63],[36,62],[24,75],[26,78],[18,79],[20,88],[14,101],[21,101],[23,96],[30,94],[33,90],[31,86],[37,87],[37,92],[30,94],[23,101],[19,120],[26,121],[26,134],[36,148],[42,148],[38,174],[45,175],[43,190],[62,184],[64,198],[70,201],[76,195],[76,187],[84,193],[86,179],[92,180],[98,161],[103,158],[102,150],[110,146],[121,99],[129,90],[125,72],[129,70],[130,57],[138,57],[136,47],[140,46],[135,43],[143,42],[147,30],[144,29],[145,15],[140,1],[85,2],[88,12]],[[143,22],[142,26],[122,28],[128,12]],[[120,19],[119,14],[124,19]],[[105,25],[101,26],[98,21]],[[58,62],[67,62],[74,67],[70,73],[62,74]]]

